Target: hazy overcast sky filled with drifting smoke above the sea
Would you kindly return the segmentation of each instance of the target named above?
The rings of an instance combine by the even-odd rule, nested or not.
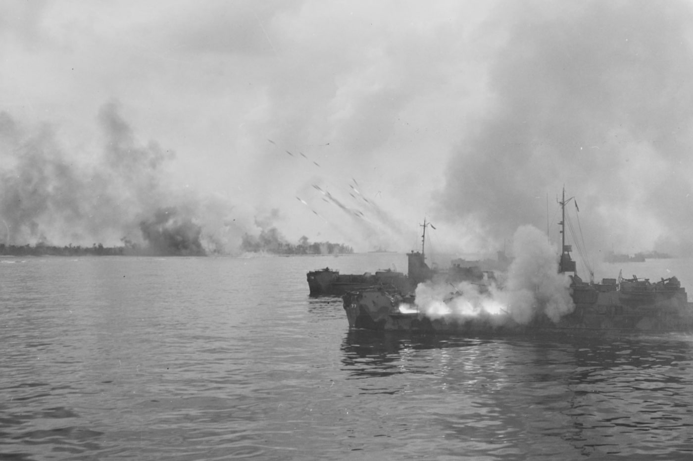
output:
[[[693,254],[688,1],[8,0],[0,63],[0,243],[495,252],[565,188],[587,252]]]

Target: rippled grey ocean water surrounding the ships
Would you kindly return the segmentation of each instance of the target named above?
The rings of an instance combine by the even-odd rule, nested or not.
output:
[[[0,259],[0,460],[693,458],[693,336],[349,331],[325,266],[406,259]]]

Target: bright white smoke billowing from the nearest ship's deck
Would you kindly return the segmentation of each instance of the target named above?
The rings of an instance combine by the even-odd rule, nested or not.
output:
[[[568,277],[558,273],[554,249],[546,235],[522,226],[514,235],[516,258],[500,286],[488,288],[463,281],[457,286],[430,282],[416,287],[416,310],[432,319],[486,318],[500,324],[508,318],[527,324],[541,315],[557,322],[573,311]],[[453,288],[451,291],[450,288]],[[404,311],[412,307],[404,306]]]

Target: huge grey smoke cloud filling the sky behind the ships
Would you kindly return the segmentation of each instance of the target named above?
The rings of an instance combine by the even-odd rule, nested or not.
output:
[[[492,17],[493,96],[453,149],[441,216],[502,241],[543,225],[565,184],[588,250],[693,254],[691,3],[503,2]]]

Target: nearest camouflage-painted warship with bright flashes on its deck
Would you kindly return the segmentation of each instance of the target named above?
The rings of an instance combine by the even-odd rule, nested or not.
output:
[[[478,334],[559,334],[625,332],[693,331],[693,303],[688,302],[685,288],[676,277],[651,283],[649,279],[602,279],[583,281],[577,275],[570,256],[572,245],[565,245],[565,189],[559,202],[562,211],[561,254],[558,272],[569,277],[568,288],[572,310],[550,318],[544,306],[534,306],[531,318],[519,319],[509,308],[478,315],[426,315],[416,308],[414,293],[383,286],[352,290],[343,296],[344,311],[350,329],[408,331],[412,333]],[[433,277],[430,277],[433,279]],[[486,293],[493,280],[480,282],[479,293]],[[463,295],[450,293],[445,302]],[[541,302],[538,302],[541,303]]]

